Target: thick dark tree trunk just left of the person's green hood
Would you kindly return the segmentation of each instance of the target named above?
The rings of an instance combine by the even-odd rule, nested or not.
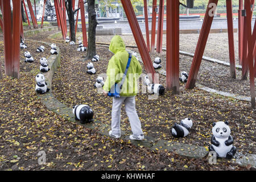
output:
[[[88,0],[88,48],[85,60],[92,59],[96,55],[96,11],[95,0]]]

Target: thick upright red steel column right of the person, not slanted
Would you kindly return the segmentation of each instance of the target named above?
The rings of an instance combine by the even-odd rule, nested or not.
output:
[[[179,0],[167,1],[166,82],[167,89],[179,93]]]

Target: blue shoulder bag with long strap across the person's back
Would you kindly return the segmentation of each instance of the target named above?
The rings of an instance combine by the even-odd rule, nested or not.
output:
[[[127,75],[127,71],[128,68],[130,67],[130,63],[131,63],[131,53],[129,52],[129,59],[126,65],[126,69],[125,69],[125,73],[123,74],[122,80],[120,83],[115,83],[112,88],[110,89],[108,96],[109,97],[115,97],[115,98],[119,98],[120,97],[120,90],[122,89],[123,86],[123,82],[125,82],[125,78]]]

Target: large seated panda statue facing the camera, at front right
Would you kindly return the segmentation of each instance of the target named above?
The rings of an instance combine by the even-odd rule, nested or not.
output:
[[[214,122],[212,128],[213,136],[210,140],[209,151],[215,151],[217,158],[232,159],[236,154],[237,148],[233,146],[234,140],[230,135],[230,127],[228,121]]]

